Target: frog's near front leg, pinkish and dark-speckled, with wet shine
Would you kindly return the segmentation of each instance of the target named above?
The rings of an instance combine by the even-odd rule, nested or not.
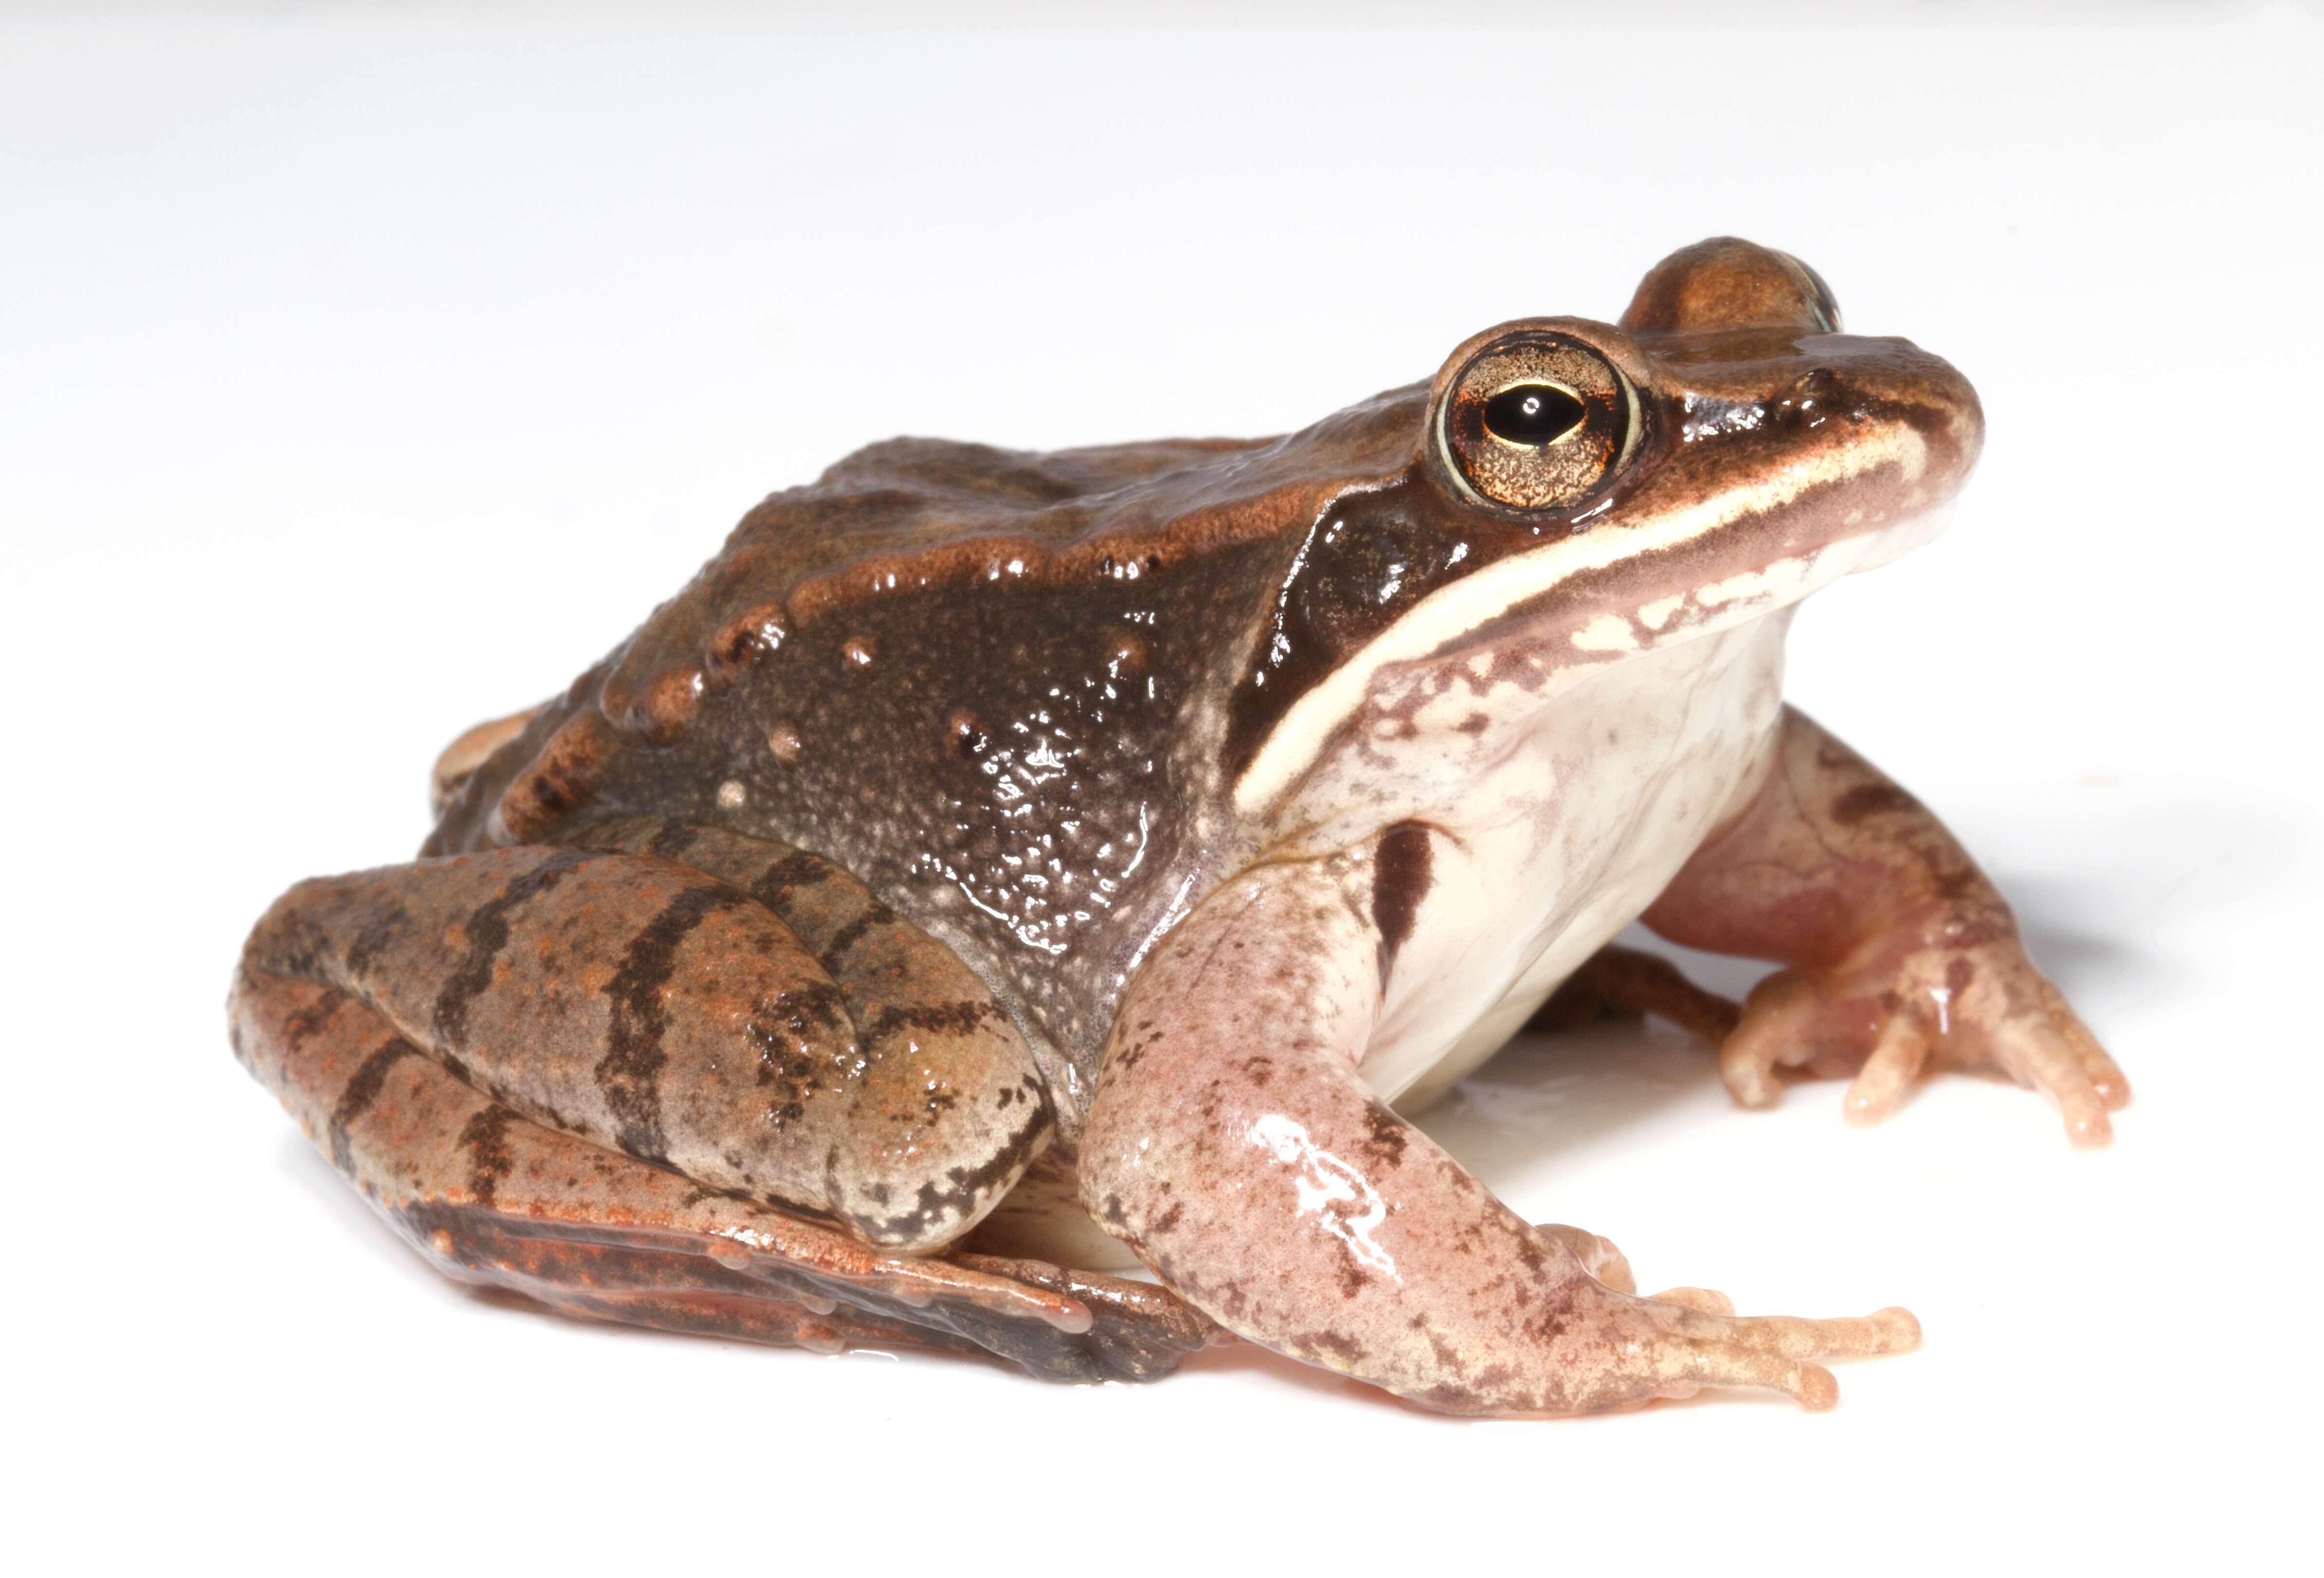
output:
[[[1369,869],[1264,867],[1125,995],[1081,1146],[1090,1213],[1234,1332],[1448,1413],[1552,1415],[1701,1385],[1836,1399],[1820,1355],[1913,1318],[1738,1318],[1641,1299],[1611,1246],[1532,1227],[1364,1088],[1380,1006]],[[1606,1271],[1606,1281],[1592,1276]]]

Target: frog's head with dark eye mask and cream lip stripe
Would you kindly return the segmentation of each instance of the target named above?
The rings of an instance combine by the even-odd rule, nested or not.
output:
[[[1948,363],[1843,335],[1815,270],[1731,237],[1620,323],[1501,323],[1360,411],[1408,460],[1332,500],[1283,588],[1229,730],[1246,809],[1350,734],[1480,730],[1896,558],[1985,432]]]

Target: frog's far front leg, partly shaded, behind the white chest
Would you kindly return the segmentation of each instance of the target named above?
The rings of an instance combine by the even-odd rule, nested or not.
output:
[[[2078,1146],[2103,1146],[2108,1109],[2131,1099],[1945,825],[1789,706],[1755,795],[1645,923],[1690,948],[1789,964],[1720,1046],[1745,1106],[1776,1099],[1778,1064],[1855,1069],[1848,1116],[1864,1122],[1924,1067],[1994,1069],[2050,1095]]]

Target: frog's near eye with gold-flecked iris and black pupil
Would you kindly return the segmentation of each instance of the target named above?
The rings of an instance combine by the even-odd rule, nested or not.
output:
[[[1638,444],[1638,395],[1604,356],[1555,330],[1480,346],[1441,386],[1436,446],[1473,502],[1548,514],[1606,486]]]

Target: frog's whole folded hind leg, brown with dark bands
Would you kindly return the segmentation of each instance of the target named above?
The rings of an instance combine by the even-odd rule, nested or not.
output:
[[[439,1269],[1055,1378],[1162,1373],[1211,1336],[1148,1287],[934,1257],[1053,1127],[951,951],[802,851],[588,837],[302,883],[244,951],[239,1055]]]

